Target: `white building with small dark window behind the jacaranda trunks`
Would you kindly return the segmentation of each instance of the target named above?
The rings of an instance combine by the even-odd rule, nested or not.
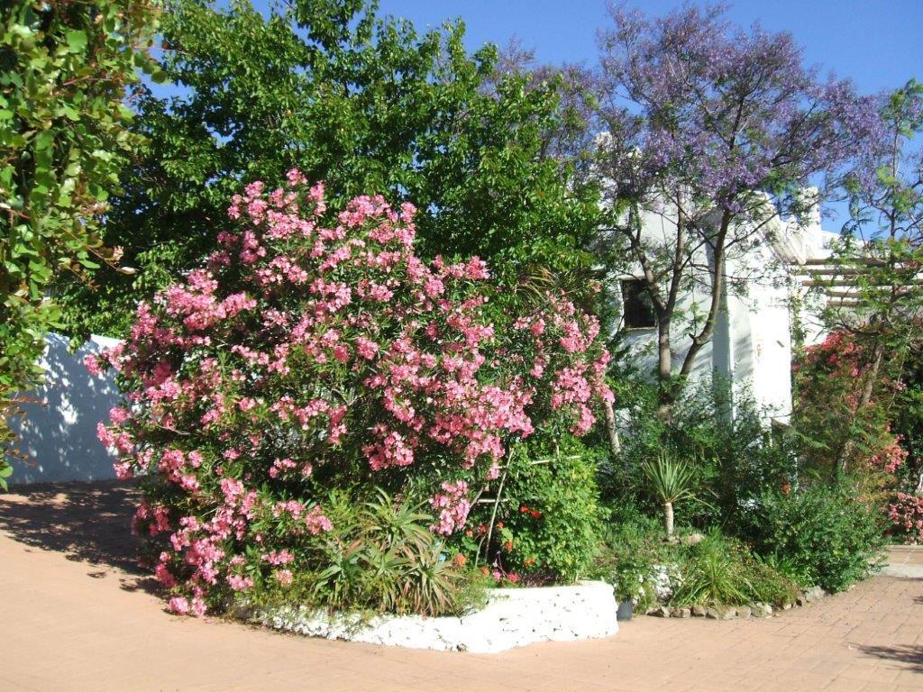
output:
[[[652,244],[666,244],[676,237],[675,222],[664,209],[647,212],[641,222],[642,235]],[[718,377],[730,382],[739,395],[749,391],[766,412],[767,424],[787,424],[792,412],[792,344],[796,318],[807,330],[807,342],[817,340],[820,327],[795,316],[792,298],[803,293],[805,265],[818,263],[830,255],[837,233],[821,228],[819,211],[808,219],[783,220],[774,216],[759,233],[759,241],[749,249],[727,257],[726,286],[712,340],[699,352],[691,378]],[[697,262],[704,272],[713,266],[704,251]],[[653,313],[644,306],[640,268],[634,275],[619,277],[622,318],[619,328],[629,343],[634,364],[643,373],[657,366],[657,330]],[[671,329],[673,369],[678,372],[697,322],[707,314],[711,303],[708,280],[681,292],[677,316]],[[695,329],[698,331],[698,329]]]

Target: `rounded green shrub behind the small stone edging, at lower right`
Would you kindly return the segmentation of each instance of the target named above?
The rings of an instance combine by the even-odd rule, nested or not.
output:
[[[766,493],[737,525],[768,564],[802,586],[827,591],[842,591],[868,574],[882,530],[881,512],[848,485]]]

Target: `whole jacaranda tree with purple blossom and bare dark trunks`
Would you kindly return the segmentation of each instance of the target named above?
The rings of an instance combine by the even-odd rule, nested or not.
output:
[[[662,412],[670,383],[691,372],[711,340],[730,275],[728,259],[765,241],[777,213],[798,213],[806,185],[841,169],[879,130],[875,103],[847,81],[804,66],[788,33],[744,31],[722,6],[646,18],[611,9],[600,36],[602,115],[611,135],[600,173],[613,203],[606,235],[615,261],[644,280],[658,334]],[[810,197],[810,196],[809,196]],[[651,242],[642,216],[665,220]],[[674,370],[677,304],[698,285],[707,308],[682,333],[689,349]],[[675,337],[675,334],[673,335]]]

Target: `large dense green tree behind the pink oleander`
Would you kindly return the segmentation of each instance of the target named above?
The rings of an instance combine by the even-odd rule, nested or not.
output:
[[[564,118],[561,78],[501,74],[495,47],[465,51],[461,23],[419,34],[376,9],[170,4],[162,68],[174,95],[139,101],[135,129],[150,148],[106,227],[137,273],[103,268],[96,290],[68,282],[74,333],[125,328],[138,298],[214,248],[238,181],[274,185],[293,167],[326,181],[335,202],[370,191],[414,200],[422,254],[490,259],[507,286],[544,276],[536,268],[591,266],[593,191],[569,185],[570,166],[547,146]]]

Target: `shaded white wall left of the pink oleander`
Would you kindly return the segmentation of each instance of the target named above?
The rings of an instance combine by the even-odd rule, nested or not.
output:
[[[119,400],[118,388],[112,377],[90,376],[83,358],[111,348],[116,341],[92,337],[73,354],[67,352],[66,337],[51,334],[45,341],[45,383],[27,394],[36,401],[22,407],[26,415],[13,420],[18,447],[29,459],[13,462],[9,482],[114,478],[113,458],[96,438],[96,424],[108,420],[109,410]]]

